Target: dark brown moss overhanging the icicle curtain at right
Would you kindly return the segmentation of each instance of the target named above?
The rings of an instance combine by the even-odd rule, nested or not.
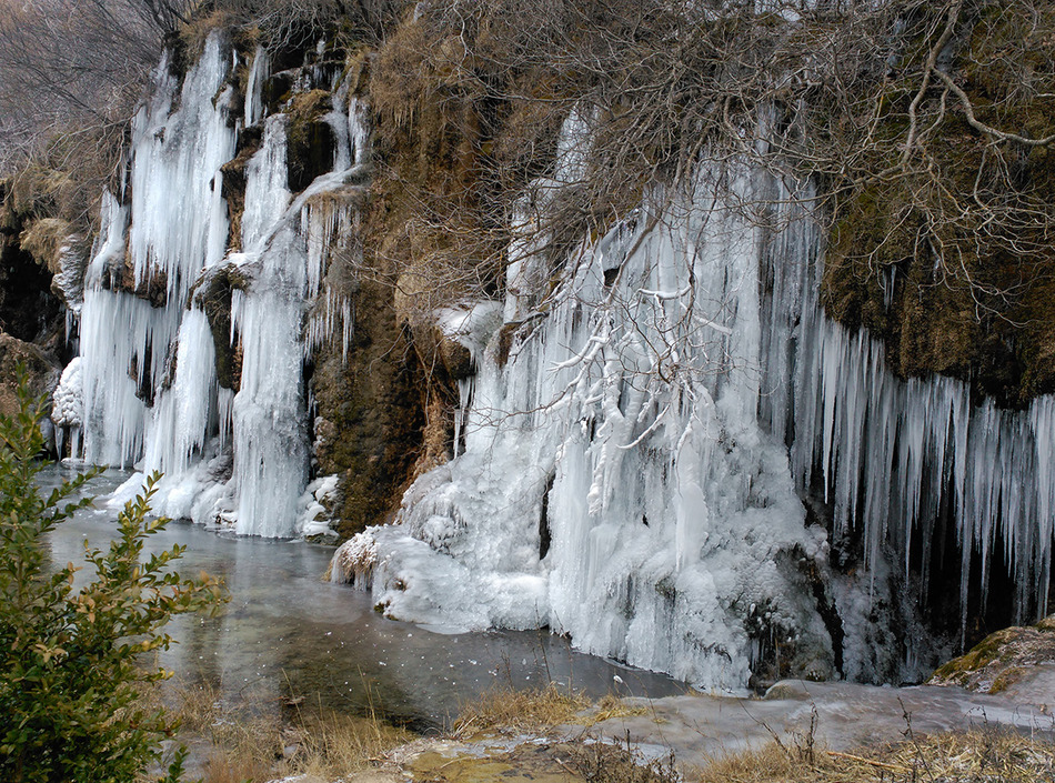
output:
[[[956,63],[979,120],[1034,137],[1055,129],[1046,97],[1055,39],[1043,32],[1055,10],[1041,13],[988,6]],[[907,98],[892,89],[881,137],[905,132]],[[927,147],[936,179],[908,172],[840,198],[822,302],[847,328],[885,340],[900,375],[949,374],[998,404],[1024,406],[1055,390],[1055,248],[1043,221],[1028,218],[1055,203],[1055,151],[994,145],[949,101]],[[963,208],[975,188],[1021,210],[1021,225],[987,233],[986,213]]]

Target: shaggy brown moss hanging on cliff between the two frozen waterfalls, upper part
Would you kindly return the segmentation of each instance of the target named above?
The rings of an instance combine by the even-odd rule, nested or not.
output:
[[[491,158],[501,101],[483,94],[462,44],[424,18],[404,21],[371,64],[369,97],[385,165],[374,182],[373,243],[403,277],[409,321],[500,288],[508,241]],[[541,154],[541,151],[540,151]]]

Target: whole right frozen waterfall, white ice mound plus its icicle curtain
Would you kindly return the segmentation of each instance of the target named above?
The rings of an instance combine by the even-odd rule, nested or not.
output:
[[[583,123],[571,116],[556,173],[515,211],[505,301],[462,321],[438,313],[441,328],[478,324],[462,334],[480,370],[461,382],[455,459],[410,489],[402,524],[368,530],[335,564],[393,616],[549,625],[707,687],[745,684],[766,644],[828,672],[820,610],[833,608],[846,674],[918,674],[921,640],[874,649],[913,622],[911,609],[878,610],[877,582],[901,568],[904,584],[921,549],[925,582],[943,520],[962,544],[964,616],[972,560],[985,585],[996,543],[1019,611],[1046,611],[1055,402],[1015,413],[973,406],[951,379],[895,379],[881,343],[818,307],[808,192],[703,164],[693,193],[646,199],[573,251],[545,302],[532,298],[549,274],[532,210],[575,181]],[[783,207],[766,208],[763,229],[745,204]],[[473,318],[495,308],[501,330]],[[871,578],[828,569],[826,534],[805,526],[796,494],[817,485],[835,535],[862,531]],[[811,571],[827,598],[811,595]]]

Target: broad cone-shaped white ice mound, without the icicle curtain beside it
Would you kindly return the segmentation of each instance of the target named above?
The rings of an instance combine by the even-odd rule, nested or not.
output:
[[[508,357],[469,330],[488,349],[464,453],[411,488],[401,525],[366,534],[392,615],[549,625],[710,687],[744,685],[767,645],[796,671],[831,673],[798,574],[823,560],[825,536],[805,526],[784,443],[756,413],[778,393],[760,354],[768,239],[731,207],[772,188],[735,164],[704,167],[694,192],[657,193],[579,249],[544,315],[513,293],[505,312],[524,325]],[[815,249],[807,222],[784,230]],[[516,260],[530,277],[535,261]]]

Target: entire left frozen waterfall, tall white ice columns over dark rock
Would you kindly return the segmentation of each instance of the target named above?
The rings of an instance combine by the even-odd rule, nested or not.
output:
[[[361,109],[339,90],[328,118],[336,170],[294,199],[287,185],[288,118],[265,117],[269,63],[258,50],[243,116],[262,123],[262,138],[245,165],[242,252],[225,254],[220,169],[233,158],[237,138],[230,68],[219,34],[181,88],[165,58],[134,120],[129,199],[105,199],[86,287],[83,455],[141,471],[117,498],[144,474],[162,472],[159,513],[244,534],[289,536],[309,524],[318,532],[318,509],[301,498],[309,472],[303,321],[321,293],[330,237],[352,222],[342,194],[355,190],[346,182],[365,159],[368,133]],[[217,338],[201,292],[224,270],[244,281],[231,301],[230,340],[241,359],[237,394],[219,384]],[[346,342],[350,311],[336,307]],[[311,520],[299,520],[309,512]]]

